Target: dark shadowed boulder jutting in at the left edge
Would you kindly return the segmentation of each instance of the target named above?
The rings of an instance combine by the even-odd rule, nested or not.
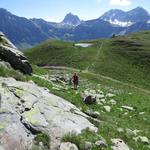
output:
[[[24,74],[31,74],[32,67],[27,58],[17,48],[0,33],[0,59],[9,62],[14,69],[20,70]]]

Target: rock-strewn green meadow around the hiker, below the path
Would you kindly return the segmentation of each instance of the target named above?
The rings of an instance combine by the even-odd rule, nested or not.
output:
[[[141,89],[130,87],[110,79],[102,78],[88,72],[80,72],[74,69],[52,69],[43,70],[33,66],[36,76],[30,77],[39,86],[47,87],[51,93],[63,97],[67,101],[76,105],[81,111],[88,110],[99,112],[97,120],[90,118],[89,121],[94,123],[99,131],[91,133],[83,131],[82,134],[76,136],[73,134],[65,135],[62,141],[75,143],[79,150],[84,150],[84,143],[90,141],[95,143],[97,140],[105,139],[111,150],[111,139],[120,138],[134,150],[149,150],[149,144],[142,142],[138,137],[147,137],[150,139],[150,94]],[[62,80],[51,81],[51,78],[60,76],[63,78],[71,77],[76,71],[80,76],[80,86],[78,90],[73,90],[69,82]],[[86,105],[83,102],[82,94],[85,91],[93,91],[96,94],[104,95],[103,98],[97,99],[96,103]],[[114,96],[109,97],[108,94]],[[101,101],[99,104],[98,101]],[[116,104],[110,103],[112,100]],[[107,112],[104,107],[110,106],[111,111]],[[133,111],[122,109],[122,106],[133,107]],[[99,122],[100,121],[100,122]],[[91,150],[99,150],[99,147],[93,147]]]

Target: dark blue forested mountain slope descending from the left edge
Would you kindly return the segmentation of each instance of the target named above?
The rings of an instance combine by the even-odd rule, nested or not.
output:
[[[37,44],[48,38],[30,20],[12,15],[5,9],[0,9],[0,30],[16,45],[23,47]]]

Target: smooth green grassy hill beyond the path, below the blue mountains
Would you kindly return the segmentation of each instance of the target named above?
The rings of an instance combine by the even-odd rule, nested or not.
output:
[[[150,89],[150,31],[89,41],[93,46],[46,41],[25,51],[33,64],[67,66]]]

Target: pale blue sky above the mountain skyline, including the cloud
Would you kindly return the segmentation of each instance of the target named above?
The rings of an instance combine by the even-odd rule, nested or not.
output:
[[[150,0],[0,0],[0,7],[15,15],[56,22],[69,12],[89,20],[100,17],[109,9],[128,11],[137,6],[150,12]]]

